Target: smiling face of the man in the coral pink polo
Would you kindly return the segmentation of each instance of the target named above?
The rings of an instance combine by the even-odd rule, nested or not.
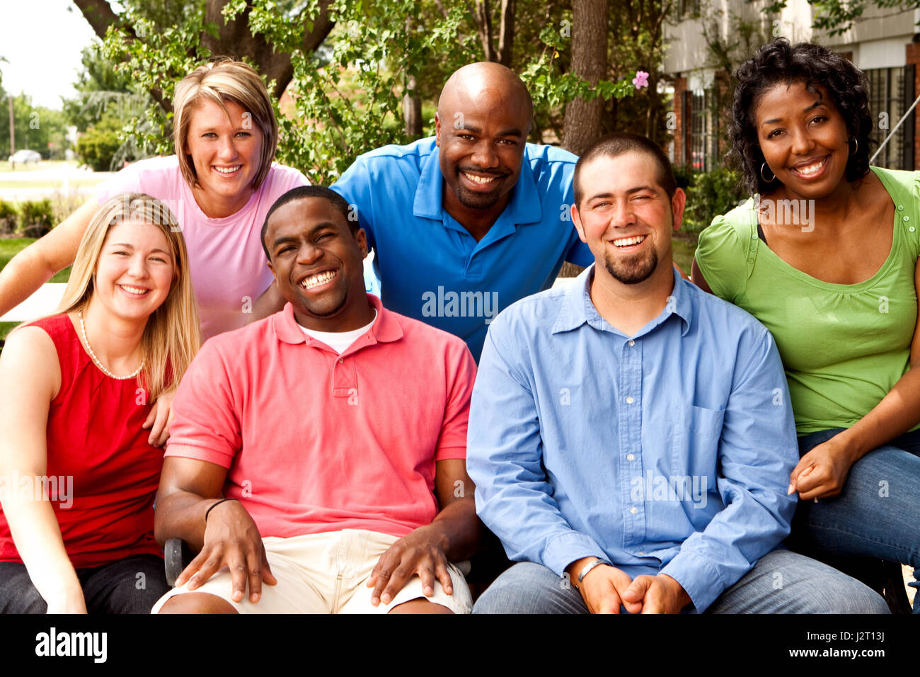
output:
[[[307,329],[345,332],[366,324],[363,260],[367,239],[328,200],[282,204],[265,233],[269,268],[294,316]],[[352,326],[353,325],[353,326]]]

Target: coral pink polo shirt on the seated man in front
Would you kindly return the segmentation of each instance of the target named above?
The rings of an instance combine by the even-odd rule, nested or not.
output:
[[[439,511],[435,461],[466,458],[476,364],[453,334],[385,310],[342,354],[281,312],[201,348],[167,456],[228,469],[262,536],[404,536]]]

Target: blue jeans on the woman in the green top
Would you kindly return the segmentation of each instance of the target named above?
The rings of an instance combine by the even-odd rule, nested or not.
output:
[[[799,438],[799,455],[843,430]],[[799,501],[788,543],[808,554],[880,557],[913,566],[914,613],[920,613],[920,431],[855,462],[840,495]]]

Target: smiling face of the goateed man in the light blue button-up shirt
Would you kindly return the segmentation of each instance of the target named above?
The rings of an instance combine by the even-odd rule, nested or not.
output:
[[[604,271],[624,285],[671,274],[671,231],[680,228],[684,192],[673,198],[660,185],[659,168],[648,153],[600,156],[581,168],[581,203],[572,220]]]

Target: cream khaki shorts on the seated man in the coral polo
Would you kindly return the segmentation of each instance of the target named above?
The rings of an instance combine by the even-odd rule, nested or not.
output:
[[[469,613],[473,606],[469,588],[460,570],[449,565],[454,593],[448,595],[437,578],[434,594],[425,597],[418,576],[409,578],[397,596],[384,604],[371,605],[373,588],[367,579],[380,555],[398,541],[375,531],[345,529],[328,533],[309,533],[292,538],[268,536],[262,539],[278,585],[262,584],[259,601],[249,601],[248,589],[243,601],[233,601],[233,579],[229,569],[214,574],[201,587],[190,590],[187,585],[167,592],[154,605],[158,613],[166,601],[186,592],[208,592],[228,601],[239,613],[387,613],[397,604],[419,598],[441,604],[454,613]]]

